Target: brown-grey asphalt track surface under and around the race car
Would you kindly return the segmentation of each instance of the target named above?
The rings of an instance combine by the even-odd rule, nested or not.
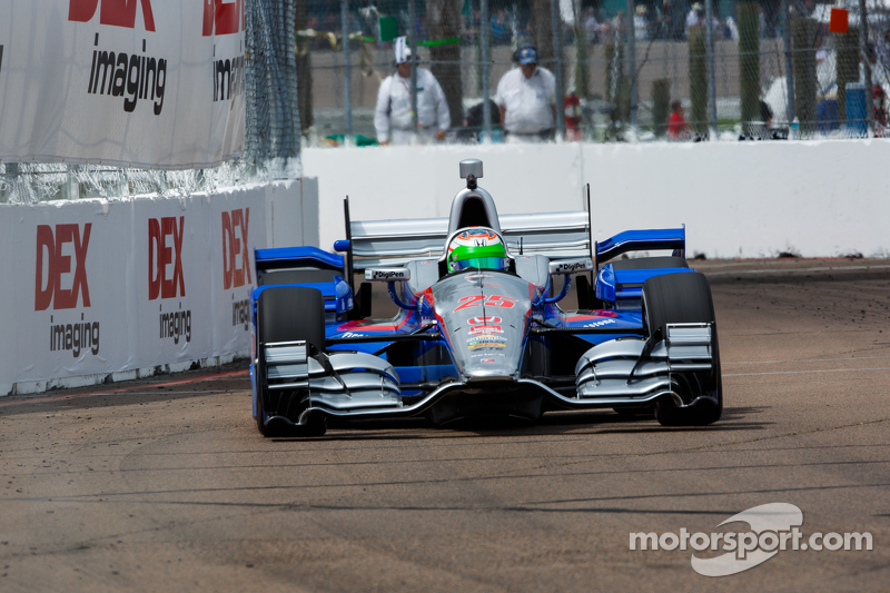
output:
[[[244,365],[0,398],[0,591],[887,591],[890,261],[703,261],[726,407],[265,439]],[[705,577],[631,532],[791,503],[804,536]],[[699,553],[713,556],[721,552]]]

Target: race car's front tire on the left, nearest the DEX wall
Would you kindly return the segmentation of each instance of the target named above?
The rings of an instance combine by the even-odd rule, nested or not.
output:
[[[315,288],[296,286],[274,286],[263,290],[257,303],[257,340],[260,344],[305,340],[318,350],[324,350],[325,302],[322,293]],[[325,418],[318,415],[312,415],[309,422],[303,426],[291,426],[285,421],[267,423],[266,398],[269,394],[263,383],[265,369],[257,369],[257,428],[263,436],[325,434]],[[298,412],[299,406],[296,407],[296,413]]]

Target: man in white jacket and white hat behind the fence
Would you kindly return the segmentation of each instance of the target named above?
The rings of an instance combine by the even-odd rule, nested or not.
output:
[[[411,110],[411,49],[404,37],[396,39],[393,49],[397,71],[380,82],[374,112],[377,141],[382,146],[409,145],[415,137]],[[445,92],[436,77],[425,68],[417,68],[417,142],[444,140],[451,121]]]

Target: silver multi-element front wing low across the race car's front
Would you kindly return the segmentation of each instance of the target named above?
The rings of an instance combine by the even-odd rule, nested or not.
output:
[[[255,397],[264,398],[264,422],[293,425],[305,425],[316,414],[393,418],[429,413],[442,417],[437,408],[447,407],[449,416],[513,409],[528,415],[530,409],[641,407],[661,398],[671,398],[678,407],[696,405],[703,398],[715,401],[720,369],[713,325],[668,324],[664,334],[611,339],[590,348],[575,366],[571,391],[555,387],[555,377],[523,376],[483,384],[446,377],[427,385],[419,396],[405,397],[397,370],[382,357],[354,352],[325,354],[305,342],[260,344],[251,376]],[[511,399],[538,405],[513,407]]]

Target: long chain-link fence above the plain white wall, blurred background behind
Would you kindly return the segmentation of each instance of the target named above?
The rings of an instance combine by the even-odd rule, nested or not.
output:
[[[500,108],[485,99],[524,45],[555,80],[553,129],[542,137],[884,135],[889,0],[301,0],[296,34],[309,146],[375,144],[396,36],[444,91],[448,142],[486,130],[504,138]]]

